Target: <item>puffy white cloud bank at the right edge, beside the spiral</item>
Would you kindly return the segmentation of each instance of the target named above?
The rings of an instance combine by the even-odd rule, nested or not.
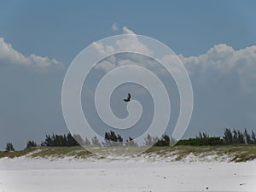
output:
[[[238,74],[243,90],[252,91],[256,82],[256,46],[235,50],[226,44],[215,45],[206,54],[179,58],[189,73],[204,74],[215,71],[219,75]]]

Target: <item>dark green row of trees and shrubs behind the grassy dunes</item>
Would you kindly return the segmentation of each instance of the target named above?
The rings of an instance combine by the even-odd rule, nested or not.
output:
[[[124,140],[119,134],[114,131],[105,132],[104,142],[100,142],[97,137],[92,137],[89,140],[87,137],[84,139],[80,135],[71,133],[58,135],[46,135],[44,141],[40,146],[47,147],[72,147],[81,145],[91,145],[91,146],[138,146],[136,141],[131,137]],[[161,138],[152,137],[149,134],[144,138],[144,145],[146,146],[170,146],[170,145],[224,145],[224,144],[256,144],[256,136],[254,131],[248,132],[245,128],[244,131],[230,128],[225,128],[223,137],[210,137],[207,133],[201,131],[195,138],[183,139],[176,142],[172,137],[164,135]],[[32,140],[26,143],[26,149],[37,147],[38,144]],[[6,151],[15,151],[12,143],[7,143],[5,147]]]

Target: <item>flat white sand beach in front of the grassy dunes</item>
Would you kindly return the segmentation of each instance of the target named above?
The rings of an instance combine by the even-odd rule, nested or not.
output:
[[[208,189],[207,189],[208,188]],[[256,161],[0,159],[0,192],[256,191]]]

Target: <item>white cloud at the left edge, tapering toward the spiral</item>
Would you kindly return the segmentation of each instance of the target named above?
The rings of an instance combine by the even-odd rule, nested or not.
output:
[[[23,55],[14,49],[11,44],[7,44],[4,38],[0,38],[0,65],[17,65],[22,67],[33,67],[46,69],[49,67],[60,67],[63,65],[55,59],[49,59],[39,55]]]

